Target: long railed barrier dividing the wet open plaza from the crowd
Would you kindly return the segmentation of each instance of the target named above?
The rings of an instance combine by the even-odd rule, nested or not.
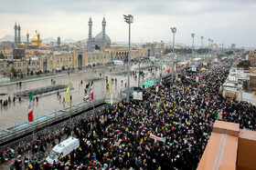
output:
[[[104,99],[98,99],[98,100],[95,100],[94,105],[95,105],[95,109],[97,109],[98,111],[99,109],[101,110],[103,107],[105,108],[107,104],[104,103]],[[21,125],[11,126],[11,127],[8,127],[7,129],[3,129],[2,134],[0,136],[0,150],[5,150],[7,147],[13,148],[14,146],[18,145],[19,142],[27,141],[27,139],[25,138],[27,136],[32,135],[33,127],[34,127],[34,131],[37,132],[37,134],[43,131],[48,132],[48,128],[55,129],[54,127],[56,125],[63,125],[64,123],[70,122],[69,117],[71,117],[72,120],[78,120],[76,118],[77,116],[79,117],[88,116],[88,115],[94,114],[94,112],[95,110],[94,111],[92,110],[91,102],[80,103],[78,105],[72,106],[70,113],[69,113],[69,108],[66,108],[58,112],[54,112],[48,115],[44,115],[42,117],[38,117],[37,119],[35,119],[34,125],[26,122]],[[20,140],[19,138],[22,138],[22,140]],[[28,138],[29,138],[28,141],[31,141],[30,140],[31,136]]]

